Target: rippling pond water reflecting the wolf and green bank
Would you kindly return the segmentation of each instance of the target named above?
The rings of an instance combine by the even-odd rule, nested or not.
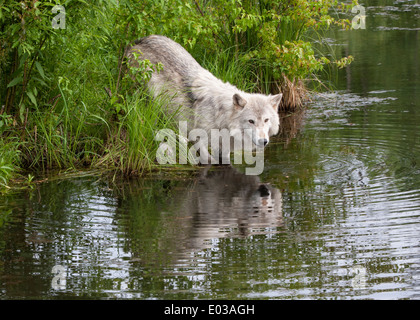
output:
[[[52,175],[2,196],[0,298],[418,299],[420,4],[366,14],[327,39],[356,59],[283,119],[259,177]]]

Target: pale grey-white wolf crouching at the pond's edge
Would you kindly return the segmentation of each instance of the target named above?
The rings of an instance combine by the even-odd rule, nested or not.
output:
[[[163,65],[159,72],[152,73],[148,89],[155,98],[170,98],[168,112],[178,121],[187,121],[188,131],[203,129],[210,137],[212,129],[226,129],[231,143],[235,138],[248,138],[253,150],[264,148],[270,137],[279,132],[281,93],[263,95],[239,90],[216,78],[180,44],[165,36],[151,35],[134,41],[127,47],[126,57],[131,67],[138,66],[136,57]],[[199,143],[196,146],[201,162],[209,163],[212,156],[202,155]],[[233,147],[237,149],[236,144]],[[221,146],[212,148],[212,155],[222,150]]]

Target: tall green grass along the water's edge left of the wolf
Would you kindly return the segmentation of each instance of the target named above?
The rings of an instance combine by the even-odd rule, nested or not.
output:
[[[84,103],[80,110],[67,106],[59,114],[36,110],[22,143],[0,144],[0,185],[19,177],[17,159],[24,162],[21,167],[35,172],[100,168],[114,176],[129,176],[157,169],[156,132],[176,130],[173,118],[163,112],[164,101],[138,92],[122,105],[124,111],[110,119],[91,113]]]

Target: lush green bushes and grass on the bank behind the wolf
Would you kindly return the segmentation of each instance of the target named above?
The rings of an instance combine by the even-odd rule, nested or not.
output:
[[[55,7],[61,5],[59,9]],[[124,68],[134,39],[165,34],[217,76],[302,105],[303,81],[344,57],[316,57],[308,35],[347,20],[334,0],[0,0],[0,184],[19,168],[153,167],[173,125]],[[65,9],[65,11],[63,10]],[[232,63],[234,61],[234,63]],[[140,70],[140,71],[144,71]],[[134,70],[139,71],[139,70]],[[141,79],[138,77],[140,76]]]

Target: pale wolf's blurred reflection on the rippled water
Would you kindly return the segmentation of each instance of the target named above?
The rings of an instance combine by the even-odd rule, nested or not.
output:
[[[258,176],[219,167],[198,178],[179,197],[184,244],[192,251],[211,247],[212,239],[249,237],[283,225],[282,195]]]

